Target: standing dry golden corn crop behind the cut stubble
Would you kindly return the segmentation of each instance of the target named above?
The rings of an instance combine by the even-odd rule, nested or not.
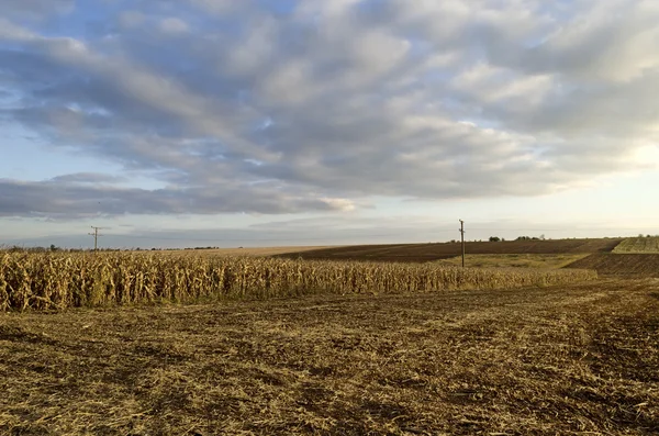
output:
[[[160,254],[0,253],[0,311],[60,310],[308,293],[429,292],[560,284],[590,270],[460,269]]]

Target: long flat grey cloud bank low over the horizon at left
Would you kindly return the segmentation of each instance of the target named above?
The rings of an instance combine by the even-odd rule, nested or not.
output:
[[[65,176],[44,182],[0,179],[0,216],[70,220],[124,214],[330,212],[350,208],[335,199],[294,197],[264,185],[234,183],[220,191],[172,187],[145,190],[87,183],[92,179],[108,181],[98,175]]]

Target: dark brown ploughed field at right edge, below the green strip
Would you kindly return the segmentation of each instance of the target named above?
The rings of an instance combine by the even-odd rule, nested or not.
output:
[[[659,278],[659,254],[595,254],[567,268],[594,269],[603,276]]]

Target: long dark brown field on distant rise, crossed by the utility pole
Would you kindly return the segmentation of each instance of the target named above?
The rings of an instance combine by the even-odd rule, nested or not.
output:
[[[498,243],[470,242],[466,244],[467,254],[590,254],[608,253],[621,238],[601,239],[551,239],[551,241],[505,241]],[[373,261],[414,261],[424,262],[447,259],[461,254],[459,243],[443,244],[394,244],[394,245],[355,245],[346,247],[322,248],[281,255],[288,258],[323,260],[373,260]]]

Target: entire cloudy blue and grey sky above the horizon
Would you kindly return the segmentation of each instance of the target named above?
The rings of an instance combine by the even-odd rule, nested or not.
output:
[[[659,234],[656,0],[2,0],[0,245]]]

